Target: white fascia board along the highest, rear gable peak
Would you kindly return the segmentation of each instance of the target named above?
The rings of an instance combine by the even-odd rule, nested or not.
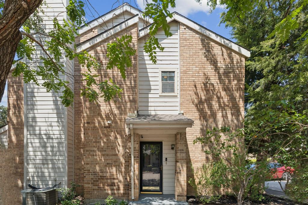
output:
[[[109,19],[113,18],[114,15],[119,15],[121,13],[123,13],[124,11],[128,11],[132,14],[138,14],[139,15],[139,18],[143,18],[142,16],[142,11],[130,6],[128,3],[124,3],[123,5],[119,6],[118,8],[114,9],[114,10],[111,10],[110,12],[108,12],[107,14],[101,16],[101,17],[98,17],[94,20],[92,20],[87,26],[84,26],[80,29],[77,30],[77,33],[80,35],[80,34],[83,34],[84,32],[90,30],[91,28],[94,28],[96,26],[99,26],[100,24],[104,24],[104,22],[108,21]],[[145,20],[145,19],[144,19]],[[148,21],[150,23],[153,22],[152,19],[148,19]],[[77,37],[77,36],[75,36]]]

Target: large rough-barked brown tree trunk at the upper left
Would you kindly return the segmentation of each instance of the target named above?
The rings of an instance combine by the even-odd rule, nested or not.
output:
[[[43,0],[6,0],[0,18],[0,99],[22,35],[22,24]],[[0,100],[1,102],[1,100]]]

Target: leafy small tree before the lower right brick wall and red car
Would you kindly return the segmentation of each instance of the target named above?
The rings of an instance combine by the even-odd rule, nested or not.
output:
[[[270,106],[273,104],[281,109],[279,111],[271,109]],[[283,101],[267,102],[266,105],[269,108],[257,113],[254,120],[249,122],[254,123],[253,127],[258,127],[256,130],[251,130],[250,126],[235,131],[230,127],[214,127],[212,130],[207,130],[205,136],[194,140],[194,143],[208,146],[205,153],[210,155],[214,162],[225,164],[221,167],[223,171],[219,176],[220,179],[224,179],[221,186],[233,191],[238,204],[242,204],[247,196],[249,199],[261,199],[260,193],[264,188],[261,185],[264,184],[266,176],[270,177],[268,162],[296,167],[298,172],[301,172],[300,167],[304,167],[308,162],[306,115],[298,113],[294,110],[294,106],[289,106]],[[250,153],[251,148],[258,151]],[[266,157],[251,166],[249,158],[257,157],[259,153]],[[295,174],[294,177],[303,176],[306,175]],[[306,187],[296,185],[296,180],[293,186],[296,186],[298,192],[307,193]]]

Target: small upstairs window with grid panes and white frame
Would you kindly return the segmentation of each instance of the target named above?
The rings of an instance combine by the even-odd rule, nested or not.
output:
[[[177,96],[177,69],[160,69],[159,70],[159,95]]]

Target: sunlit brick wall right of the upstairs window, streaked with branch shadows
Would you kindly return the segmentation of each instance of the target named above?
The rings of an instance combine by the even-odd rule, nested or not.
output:
[[[187,181],[190,163],[199,167],[211,159],[207,147],[193,139],[212,127],[243,127],[245,58],[226,46],[180,24],[180,109],[194,120],[187,128]],[[193,195],[187,183],[187,195]]]

